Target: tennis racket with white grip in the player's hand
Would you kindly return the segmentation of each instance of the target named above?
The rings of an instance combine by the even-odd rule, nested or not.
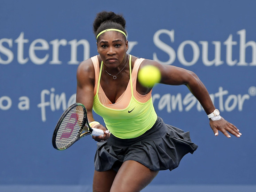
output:
[[[57,150],[67,149],[89,134],[101,136],[104,132],[101,129],[91,128],[85,106],[75,103],[67,108],[59,119],[53,133],[53,147]]]

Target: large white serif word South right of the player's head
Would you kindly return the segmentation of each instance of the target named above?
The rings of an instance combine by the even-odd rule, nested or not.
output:
[[[172,30],[167,30],[167,29],[160,29],[157,32],[155,32],[154,36],[153,36],[153,42],[155,44],[156,47],[158,47],[160,50],[162,50],[163,52],[167,53],[169,55],[169,60],[168,61],[161,61],[159,59],[159,56],[157,56],[157,53],[153,53],[153,60],[158,61],[161,64],[167,64],[167,65],[171,65],[173,64],[173,62],[176,59],[176,52],[173,49],[173,47],[170,46],[170,43],[168,44],[168,42],[163,42],[160,40],[160,35],[165,34],[168,35],[171,39],[171,43],[175,42],[175,36],[174,36],[174,29]],[[238,42],[233,41],[233,36],[232,34],[229,35],[229,37],[227,38],[226,41],[223,42],[223,45],[226,46],[226,50],[225,50],[225,55],[221,55],[221,41],[213,41],[211,42],[211,44],[213,44],[215,46],[214,49],[214,59],[213,60],[209,60],[208,55],[209,55],[209,43],[208,41],[199,41],[198,43],[202,45],[202,50],[201,50],[201,57],[202,57],[202,63],[205,66],[219,66],[222,65],[224,63],[224,61],[222,61],[221,56],[226,58],[226,64],[228,66],[256,66],[256,42],[255,41],[248,41],[246,42],[246,30],[242,29],[240,31],[237,32],[237,34],[239,35],[240,41],[239,41],[239,45]],[[177,43],[177,42],[176,42]],[[184,53],[184,47],[185,46],[190,46],[192,48],[192,60],[191,61],[187,61],[185,59],[185,53]],[[239,47],[235,47],[235,46],[239,46]],[[248,63],[246,62],[246,48],[247,47],[251,47],[252,49],[252,54],[250,54],[250,58],[252,58],[251,62]],[[238,60],[238,55],[235,55],[237,58],[235,58],[233,60],[233,48],[239,48],[239,62],[237,62]],[[186,40],[183,41],[181,43],[179,43],[178,49],[177,49],[177,58],[178,61],[184,65],[184,66],[192,66],[194,64],[196,64],[199,61],[200,58],[200,48],[199,45],[192,41],[192,40]]]

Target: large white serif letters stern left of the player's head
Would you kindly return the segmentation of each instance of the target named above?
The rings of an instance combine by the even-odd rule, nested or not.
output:
[[[83,47],[83,60],[90,58],[90,44],[85,39],[79,41],[74,39],[69,42],[65,39],[55,39],[48,43],[46,40],[38,38],[32,41],[27,50],[24,48],[24,44],[29,43],[29,39],[24,38],[24,36],[24,32],[21,32],[18,38],[14,40],[14,43],[17,43],[17,61],[19,64],[25,64],[31,60],[32,63],[41,65],[49,60],[50,55],[52,56],[52,60],[49,61],[50,64],[62,64],[62,61],[59,60],[61,48],[65,49],[64,51],[70,51],[70,61],[67,62],[68,64],[79,64],[81,61],[77,60],[77,50],[80,46]],[[50,45],[52,45],[51,53],[49,52]],[[13,61],[16,51],[11,48],[13,48],[13,39],[0,39],[0,64],[10,64]],[[25,55],[28,55],[28,57],[24,58],[24,53],[27,53]],[[1,57],[1,54],[5,56],[4,59]]]

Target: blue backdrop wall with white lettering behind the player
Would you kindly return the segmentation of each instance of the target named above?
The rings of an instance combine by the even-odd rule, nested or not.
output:
[[[96,142],[84,138],[57,151],[51,137],[62,112],[75,102],[78,64],[97,54],[92,23],[102,10],[126,18],[130,54],[194,71],[222,116],[243,134],[215,137],[185,86],[155,86],[158,115],[190,131],[199,148],[177,169],[160,172],[145,191],[155,185],[166,191],[179,185],[191,190],[242,185],[255,191],[255,6],[250,0],[1,0],[1,191],[46,186],[56,191],[54,186],[67,185],[91,190]]]

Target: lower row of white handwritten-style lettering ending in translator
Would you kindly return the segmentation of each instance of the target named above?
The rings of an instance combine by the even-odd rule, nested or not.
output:
[[[210,94],[211,100],[222,112],[231,112],[234,110],[242,111],[245,103],[248,105],[247,101],[255,96],[255,86],[249,87],[248,94],[229,95],[229,91],[224,90],[223,87],[219,87],[217,93]],[[29,97],[21,96],[18,100],[19,110],[30,110]],[[74,104],[76,102],[76,94],[72,94],[70,98],[67,98],[64,92],[56,94],[55,88],[51,88],[50,90],[43,89],[40,94],[40,101],[41,102],[37,106],[41,108],[41,119],[45,122],[49,111],[65,111],[67,107]],[[166,110],[168,113],[171,113],[172,111],[188,112],[192,110],[193,107],[199,112],[203,111],[199,101],[190,92],[185,96],[182,96],[181,93],[177,93],[176,95],[171,95],[169,93],[160,95],[159,93],[156,93],[152,95],[152,101],[155,109],[160,111]],[[11,106],[12,100],[9,96],[0,96],[0,110],[10,110]]]

